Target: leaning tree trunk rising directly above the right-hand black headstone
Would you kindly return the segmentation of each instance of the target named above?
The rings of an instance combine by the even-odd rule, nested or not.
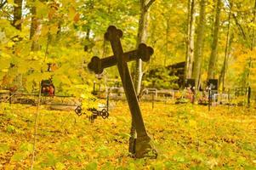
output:
[[[218,53],[218,40],[219,40],[219,17],[220,17],[221,0],[217,1],[215,23],[213,28],[213,43],[212,52],[208,65],[208,79],[214,78],[215,65]]]

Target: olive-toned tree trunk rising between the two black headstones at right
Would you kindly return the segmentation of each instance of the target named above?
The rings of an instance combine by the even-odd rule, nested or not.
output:
[[[200,70],[202,64],[202,56],[203,56],[203,40],[204,40],[204,29],[205,29],[205,0],[201,0],[200,2],[200,18],[199,25],[197,26],[197,36],[196,36],[196,47],[195,47],[195,62],[194,68],[192,72],[192,77],[196,81],[196,89],[199,88],[200,82]]]

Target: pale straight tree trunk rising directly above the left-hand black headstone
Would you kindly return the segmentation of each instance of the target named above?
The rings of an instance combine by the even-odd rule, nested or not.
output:
[[[194,61],[195,0],[188,1],[187,53],[185,59],[185,78],[191,78]]]

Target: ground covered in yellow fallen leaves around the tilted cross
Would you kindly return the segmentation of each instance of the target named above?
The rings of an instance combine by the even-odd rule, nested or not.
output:
[[[247,107],[142,102],[157,159],[128,155],[126,102],[94,123],[40,106],[34,169],[256,169],[256,111]],[[29,169],[36,106],[1,104],[0,169]]]

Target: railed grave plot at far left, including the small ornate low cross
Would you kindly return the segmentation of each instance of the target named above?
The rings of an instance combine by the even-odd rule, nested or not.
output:
[[[43,89],[43,88],[42,88]],[[9,103],[9,105],[21,104],[21,105],[38,105],[38,94],[25,94],[22,92],[10,92],[9,90],[1,90],[0,102]],[[89,99],[92,100],[92,99]],[[40,97],[40,105],[44,105],[48,111],[74,111],[77,116],[86,114],[82,111],[82,99],[78,99],[74,96],[66,95],[48,95],[43,94]],[[90,101],[88,101],[89,103]],[[88,113],[88,120],[94,122],[98,116],[106,119],[109,117],[109,99],[105,99],[105,104],[99,101],[98,105],[90,106],[85,108]]]

